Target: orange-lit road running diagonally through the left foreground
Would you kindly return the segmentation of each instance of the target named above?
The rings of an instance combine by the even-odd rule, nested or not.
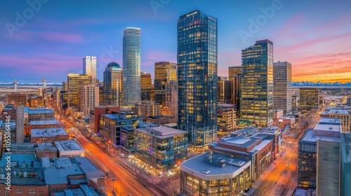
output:
[[[58,111],[55,111],[55,113],[61,116]],[[64,116],[61,117],[62,118],[58,118],[58,120],[65,125],[66,130],[74,127],[67,118]],[[70,132],[70,134],[72,134],[76,141],[88,152],[88,159],[102,172],[108,175],[106,183],[110,186],[105,188],[105,193],[107,193],[107,195],[113,195],[112,188],[114,188],[114,192],[117,193],[117,195],[154,195],[152,191],[148,190],[146,186],[136,179],[135,174],[131,174],[131,171],[128,172],[128,169],[126,169],[124,165],[120,165],[117,158],[112,158],[111,155],[103,151],[101,146],[86,139],[78,129],[75,130],[76,131]],[[112,181],[112,179],[116,180]],[[151,187],[148,188],[151,189]]]

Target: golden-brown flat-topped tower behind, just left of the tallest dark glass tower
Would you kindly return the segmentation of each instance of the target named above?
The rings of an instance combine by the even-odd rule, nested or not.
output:
[[[166,84],[177,80],[177,64],[173,62],[156,62],[154,64],[154,89],[156,92],[165,90]]]

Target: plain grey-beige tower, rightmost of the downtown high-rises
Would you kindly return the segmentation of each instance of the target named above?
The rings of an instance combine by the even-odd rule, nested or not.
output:
[[[281,109],[284,115],[292,113],[291,63],[273,63],[273,109]]]

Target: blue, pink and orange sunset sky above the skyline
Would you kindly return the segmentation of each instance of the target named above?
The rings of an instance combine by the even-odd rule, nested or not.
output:
[[[351,82],[348,0],[4,0],[0,82],[61,83],[67,73],[82,73],[84,56],[98,58],[102,80],[109,62],[122,66],[125,27],[141,28],[142,71],[153,76],[155,62],[176,62],[177,20],[193,10],[218,19],[218,76],[241,64],[241,50],[267,38],[274,62],[293,64],[293,81]]]

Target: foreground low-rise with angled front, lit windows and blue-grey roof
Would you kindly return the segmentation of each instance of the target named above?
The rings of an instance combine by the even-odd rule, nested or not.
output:
[[[251,183],[251,161],[222,153],[204,153],[180,165],[180,193],[242,195]]]

